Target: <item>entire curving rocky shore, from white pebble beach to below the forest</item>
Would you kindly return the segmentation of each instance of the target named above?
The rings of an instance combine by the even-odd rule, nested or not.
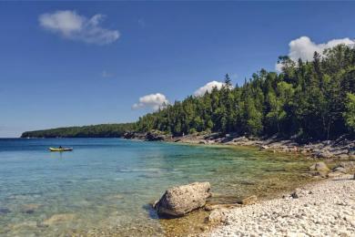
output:
[[[201,145],[258,147],[269,152],[293,152],[315,163],[307,175],[317,178],[301,189],[269,201],[251,196],[234,204],[207,204],[207,225],[198,236],[354,236],[355,141],[336,140],[299,144],[294,140],[250,139],[227,134],[171,137],[133,134],[128,139]],[[321,160],[332,164],[330,168]],[[195,236],[196,234],[192,234]]]

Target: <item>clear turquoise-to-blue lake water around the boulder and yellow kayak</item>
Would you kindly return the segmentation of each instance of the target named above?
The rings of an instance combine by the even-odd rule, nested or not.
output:
[[[74,151],[47,150],[60,145]],[[251,194],[268,198],[306,181],[302,173],[307,167],[309,161],[296,155],[227,146],[0,139],[0,235],[195,232],[196,222],[206,214],[159,220],[149,203],[167,188],[193,181],[211,183],[213,202]]]

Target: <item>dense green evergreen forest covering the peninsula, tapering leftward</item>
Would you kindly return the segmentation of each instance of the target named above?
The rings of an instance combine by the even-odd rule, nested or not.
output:
[[[260,69],[244,84],[165,105],[135,123],[27,131],[22,137],[122,137],[152,130],[172,136],[236,133],[310,140],[355,138],[355,48],[315,52],[311,62],[279,57],[280,73]]]

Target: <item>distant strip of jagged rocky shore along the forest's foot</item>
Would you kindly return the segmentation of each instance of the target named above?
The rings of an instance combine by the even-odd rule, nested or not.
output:
[[[238,134],[222,135],[219,133],[172,137],[160,132],[132,132],[126,133],[123,138],[203,145],[249,146],[272,152],[301,153],[309,156],[309,158],[320,160],[355,160],[355,140],[347,139],[346,136],[335,140],[308,142],[306,144],[299,144],[291,139],[279,139],[276,136],[271,138],[247,138],[245,136],[238,136]]]

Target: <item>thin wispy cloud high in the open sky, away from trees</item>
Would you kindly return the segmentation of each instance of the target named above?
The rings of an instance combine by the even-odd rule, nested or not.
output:
[[[117,30],[100,26],[104,19],[105,15],[96,14],[87,18],[69,10],[45,13],[38,17],[39,25],[46,30],[67,39],[96,45],[113,43],[120,36]]]

